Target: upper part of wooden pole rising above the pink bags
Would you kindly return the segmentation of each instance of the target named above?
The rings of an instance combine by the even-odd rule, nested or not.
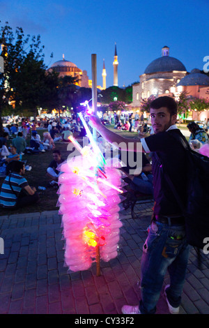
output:
[[[97,55],[91,54],[91,75],[92,75],[92,109],[93,114],[97,114],[98,110],[98,90],[97,90]],[[97,141],[97,133],[93,128],[93,139]]]

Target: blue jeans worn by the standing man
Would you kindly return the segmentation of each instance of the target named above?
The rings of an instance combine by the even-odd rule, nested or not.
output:
[[[167,269],[170,276],[167,298],[171,306],[180,305],[188,258],[189,245],[184,225],[153,221],[141,258],[141,314],[155,313]]]

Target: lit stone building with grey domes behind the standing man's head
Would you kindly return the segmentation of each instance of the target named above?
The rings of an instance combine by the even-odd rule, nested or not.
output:
[[[162,56],[153,60],[139,75],[140,83],[132,85],[132,107],[139,110],[141,99],[150,96],[174,96],[178,98],[181,92],[186,92],[189,98],[204,98],[209,100],[209,77],[197,68],[187,72],[184,64],[169,56],[169,47],[162,47]],[[198,116],[192,113],[192,119],[209,119],[209,111]]]

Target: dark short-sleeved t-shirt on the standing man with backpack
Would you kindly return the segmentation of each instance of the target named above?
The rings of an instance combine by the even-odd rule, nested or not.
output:
[[[186,201],[187,157],[183,146],[172,137],[173,133],[178,133],[179,137],[183,136],[178,128],[173,128],[144,138],[149,151],[153,152],[152,172],[155,199],[154,214],[156,215],[182,215],[171,187],[164,177],[163,167],[173,182],[180,199],[183,203]]]

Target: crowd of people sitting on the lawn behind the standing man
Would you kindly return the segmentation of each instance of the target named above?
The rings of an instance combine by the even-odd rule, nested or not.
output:
[[[38,133],[38,129],[40,127],[47,129],[47,132],[42,134],[42,138]],[[121,120],[118,120],[115,126],[116,129],[121,131],[130,131],[130,127],[130,120],[124,121],[123,124]],[[201,152],[203,145],[206,145],[206,147],[208,147],[209,156],[209,137],[207,131],[200,128],[195,122],[188,124],[187,128],[191,132],[189,144],[192,149]],[[148,135],[153,134],[152,127],[144,123],[144,119],[141,121],[141,119],[135,118],[134,124],[132,124],[132,130],[138,133],[139,138],[147,137]],[[62,158],[60,151],[55,149],[55,143],[69,142],[68,137],[70,135],[74,135],[75,133],[81,136],[86,134],[84,133],[82,124],[79,124],[79,122],[69,118],[54,118],[50,121],[42,121],[39,124],[35,120],[33,120],[30,124],[28,120],[22,119],[19,124],[13,123],[10,124],[10,126],[5,126],[4,133],[2,137],[0,137],[0,173],[5,170],[6,177],[8,177],[8,174],[11,174],[13,170],[16,170],[14,171],[14,174],[22,176],[22,174],[24,174],[25,166],[22,167],[22,164],[18,166],[15,162],[24,163],[22,162],[23,154],[41,154],[42,152],[52,150],[53,161],[49,163],[46,174],[50,179],[48,186],[58,188],[58,179],[61,172],[59,172],[56,168],[64,161],[64,159]],[[140,193],[144,193],[146,195],[153,195],[151,158],[148,158],[148,156],[145,156],[144,154],[142,157],[143,163],[140,174],[130,174],[128,171],[128,166],[123,168],[123,171],[125,172],[128,184],[133,191],[139,191]],[[4,184],[7,184],[6,181]],[[24,184],[26,184],[25,180]],[[24,184],[22,185],[22,188],[24,188]],[[34,193],[31,192],[29,195],[34,195],[35,193],[35,198],[38,200],[36,191],[34,191]],[[2,197],[3,196],[1,193],[0,199],[2,199]],[[29,200],[31,200],[31,198]]]

